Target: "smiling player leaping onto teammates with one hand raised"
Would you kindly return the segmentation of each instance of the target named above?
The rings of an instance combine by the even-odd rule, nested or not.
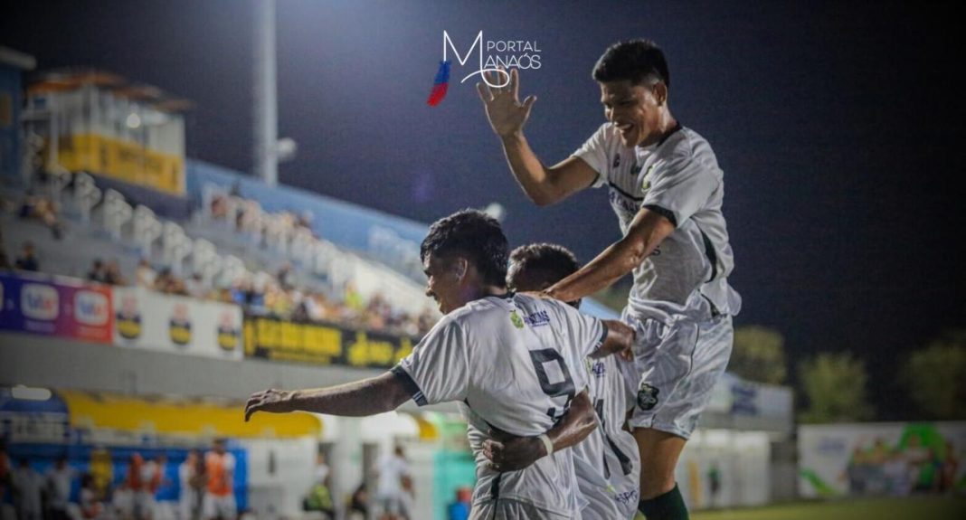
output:
[[[639,510],[650,520],[688,517],[674,467],[731,353],[731,315],[741,306],[722,214],[724,177],[708,142],[668,108],[662,50],[637,40],[612,45],[593,77],[607,123],[571,157],[545,166],[523,128],[536,98],[519,101],[519,78],[477,85],[510,170],[539,206],[584,188],[609,189],[623,238],[545,290],[573,302],[625,274],[634,285],[623,318],[637,329],[637,405],[630,424],[640,452]],[[492,84],[502,81],[495,75]]]

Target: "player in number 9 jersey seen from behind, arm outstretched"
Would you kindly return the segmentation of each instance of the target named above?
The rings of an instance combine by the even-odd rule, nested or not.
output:
[[[470,518],[580,518],[572,450],[562,448],[597,424],[581,363],[629,349],[633,330],[564,303],[509,293],[507,249],[497,220],[481,212],[438,220],[420,257],[426,294],[444,316],[412,354],[381,376],[339,387],[256,392],[245,418],[296,410],[357,417],[411,398],[418,405],[456,401],[476,458]],[[568,408],[579,420],[556,424]],[[514,446],[536,447],[543,456],[521,470],[490,462],[483,442],[491,431],[522,438]]]

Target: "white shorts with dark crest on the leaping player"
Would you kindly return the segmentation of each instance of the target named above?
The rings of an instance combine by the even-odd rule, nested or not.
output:
[[[665,324],[639,321],[625,309],[623,320],[637,332],[638,381],[631,426],[690,438],[731,357],[731,316]]]

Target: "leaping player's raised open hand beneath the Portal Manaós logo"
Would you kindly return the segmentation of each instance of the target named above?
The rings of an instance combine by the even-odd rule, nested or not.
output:
[[[484,74],[486,82],[476,83],[476,92],[486,106],[486,117],[490,120],[490,126],[500,137],[523,130],[530,117],[533,101],[537,101],[536,96],[527,96],[523,103],[520,102],[520,74],[516,69],[509,73],[500,69],[499,72]]]

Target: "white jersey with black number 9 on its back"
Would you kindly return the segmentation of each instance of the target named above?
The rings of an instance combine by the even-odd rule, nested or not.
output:
[[[571,449],[497,473],[482,445],[491,428],[521,437],[551,429],[586,387],[583,359],[606,336],[603,322],[565,303],[488,297],[444,316],[393,372],[419,405],[464,404],[476,458],[474,504],[506,498],[577,517]]]

